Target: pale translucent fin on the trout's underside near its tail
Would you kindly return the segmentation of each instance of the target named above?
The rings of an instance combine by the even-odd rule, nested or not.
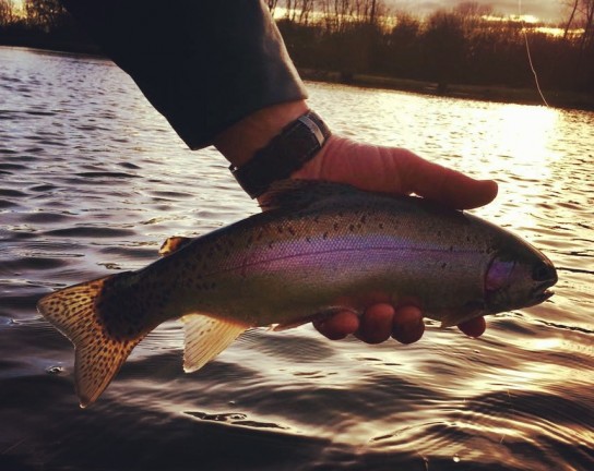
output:
[[[200,370],[225,350],[250,326],[203,314],[190,314],[183,322],[183,371]]]

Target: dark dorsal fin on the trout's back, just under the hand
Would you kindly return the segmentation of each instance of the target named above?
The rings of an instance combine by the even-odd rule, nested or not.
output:
[[[344,197],[360,192],[361,190],[344,183],[286,179],[271,185],[270,190],[260,198],[260,206],[263,209],[300,209],[324,198]]]

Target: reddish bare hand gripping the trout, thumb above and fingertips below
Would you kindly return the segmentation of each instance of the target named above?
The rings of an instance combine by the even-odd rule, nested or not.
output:
[[[348,183],[383,193],[415,193],[456,209],[483,206],[497,195],[495,181],[474,180],[403,148],[361,144],[338,136],[332,136],[292,178]],[[373,304],[360,317],[351,311],[341,311],[314,322],[313,326],[332,340],[353,334],[367,343],[380,343],[390,337],[412,343],[425,331],[423,312],[411,304],[396,307]],[[479,337],[485,327],[484,317],[459,325],[471,337]]]

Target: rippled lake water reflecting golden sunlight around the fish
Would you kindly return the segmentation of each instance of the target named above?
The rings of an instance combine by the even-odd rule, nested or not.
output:
[[[0,469],[593,470],[594,113],[309,84],[336,133],[500,183],[474,210],[558,267],[556,295],[479,339],[248,331],[198,373],[162,325],[82,410],[54,289],[258,212],[109,61],[0,48]]]

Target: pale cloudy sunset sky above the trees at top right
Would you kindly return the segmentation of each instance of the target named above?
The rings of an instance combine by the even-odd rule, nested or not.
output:
[[[492,5],[496,13],[518,14],[518,0],[475,0],[477,3]],[[450,9],[460,3],[459,0],[385,0],[393,9],[412,13],[429,13],[440,8]],[[556,22],[565,14],[562,0],[521,0],[522,14],[532,15],[543,21]]]

